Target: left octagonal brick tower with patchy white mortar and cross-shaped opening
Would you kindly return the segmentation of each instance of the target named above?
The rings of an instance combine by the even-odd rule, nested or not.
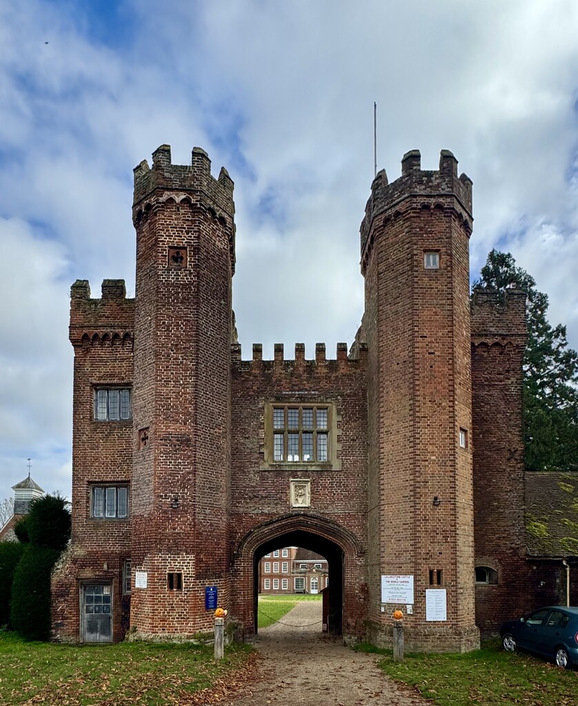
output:
[[[152,168],[134,169],[131,628],[141,637],[210,628],[206,585],[228,602],[232,193],[200,148],[180,166],[162,145]]]

